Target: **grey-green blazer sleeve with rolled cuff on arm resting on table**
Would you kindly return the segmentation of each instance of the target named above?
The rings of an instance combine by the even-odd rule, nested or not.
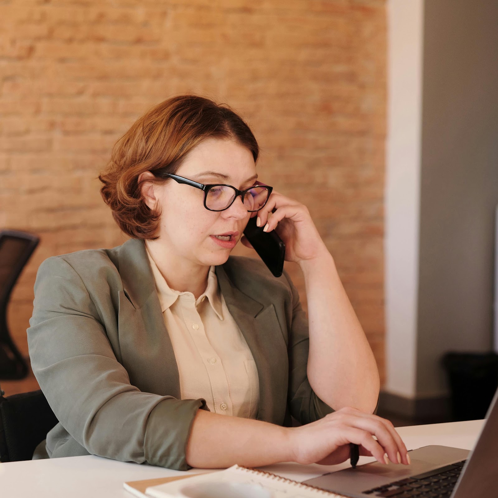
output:
[[[64,429],[93,455],[190,469],[185,447],[205,400],[131,385],[84,282],[62,257],[41,264],[34,290],[31,365]]]

